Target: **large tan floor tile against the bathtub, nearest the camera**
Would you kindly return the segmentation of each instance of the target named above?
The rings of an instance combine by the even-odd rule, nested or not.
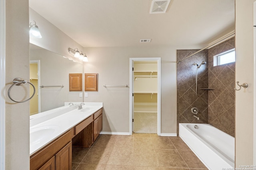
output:
[[[206,166],[198,159],[191,150],[178,150],[182,158],[185,160],[189,168],[204,169]],[[207,168],[206,168],[207,169]]]

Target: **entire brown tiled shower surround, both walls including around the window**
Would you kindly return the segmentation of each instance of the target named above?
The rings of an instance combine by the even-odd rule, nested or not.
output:
[[[235,63],[213,66],[214,55],[234,47],[234,38],[231,38],[177,64],[177,134],[179,123],[209,123],[234,137]],[[177,50],[177,61],[196,51]],[[207,64],[198,69],[196,96],[196,66],[193,63],[202,61]],[[215,90],[200,90],[208,87]],[[192,107],[199,108],[199,121],[193,117]]]

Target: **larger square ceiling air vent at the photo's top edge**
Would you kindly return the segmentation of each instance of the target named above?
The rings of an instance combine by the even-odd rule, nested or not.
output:
[[[165,13],[171,0],[152,0],[150,14]]]

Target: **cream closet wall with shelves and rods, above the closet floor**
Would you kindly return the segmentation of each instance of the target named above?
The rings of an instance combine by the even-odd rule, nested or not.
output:
[[[157,62],[134,62],[134,112],[157,113]]]

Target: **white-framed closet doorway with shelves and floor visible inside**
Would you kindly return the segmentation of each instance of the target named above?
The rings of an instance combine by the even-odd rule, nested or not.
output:
[[[130,58],[130,134],[160,135],[161,58]]]

